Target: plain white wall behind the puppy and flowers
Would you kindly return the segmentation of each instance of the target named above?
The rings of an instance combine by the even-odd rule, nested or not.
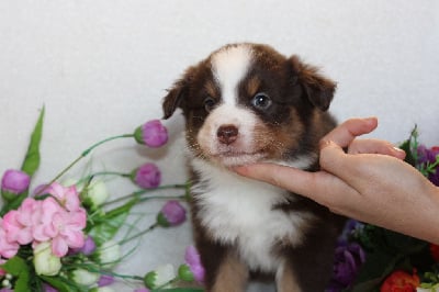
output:
[[[439,2],[431,1],[15,1],[0,2],[0,173],[19,168],[45,105],[42,165],[33,186],[50,180],[92,143],[132,133],[161,117],[161,99],[190,65],[235,42],[267,43],[297,54],[337,81],[339,121],[378,116],[371,136],[395,144],[415,124],[420,141],[439,143]],[[164,183],[182,182],[182,120],[167,121],[160,150],[133,141],[94,151],[93,169],[160,166]],[[90,161],[90,160],[86,160]],[[82,170],[83,171],[83,170]],[[74,176],[74,175],[72,175]],[[132,190],[109,182],[113,198]],[[136,207],[154,221],[161,201]],[[144,222],[144,221],[142,221]],[[138,228],[148,223],[139,223]],[[120,265],[143,274],[181,262],[189,224],[157,231]],[[130,285],[130,289],[133,285]]]

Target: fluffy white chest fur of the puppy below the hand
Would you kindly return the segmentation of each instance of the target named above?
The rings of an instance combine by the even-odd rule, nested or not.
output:
[[[300,244],[312,215],[274,209],[285,202],[284,190],[241,178],[201,159],[193,159],[192,167],[201,175],[193,193],[209,234],[236,247],[250,269],[274,272],[281,258],[273,252],[273,245],[279,240]]]

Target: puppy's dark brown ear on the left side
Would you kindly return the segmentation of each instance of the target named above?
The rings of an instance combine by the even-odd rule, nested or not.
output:
[[[193,69],[189,68],[183,77],[168,90],[168,94],[164,98],[162,103],[164,119],[169,119],[177,108],[184,108],[184,102],[189,94],[189,85],[192,79],[192,71]]]

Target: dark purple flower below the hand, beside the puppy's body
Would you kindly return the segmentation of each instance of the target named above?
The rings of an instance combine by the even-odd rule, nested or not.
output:
[[[336,248],[333,279],[328,291],[348,288],[365,261],[364,250],[357,243],[342,244]]]

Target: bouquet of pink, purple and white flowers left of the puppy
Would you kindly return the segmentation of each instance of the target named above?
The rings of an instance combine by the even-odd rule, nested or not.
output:
[[[136,167],[131,173],[100,171],[76,181],[60,179],[82,158],[103,143],[134,138],[147,147],[167,143],[167,128],[159,120],[148,121],[133,134],[103,139],[81,153],[55,178],[31,191],[33,175],[40,167],[40,143],[44,109],[31,135],[20,169],[9,169],[1,178],[3,204],[0,210],[0,291],[112,291],[117,279],[133,281],[138,292],[195,292],[187,288],[202,283],[203,267],[196,250],[187,248],[185,262],[178,268],[165,265],[142,276],[119,274],[114,267],[134,250],[123,251],[126,243],[157,227],[178,226],[185,221],[183,206],[188,184],[160,186],[161,173],[153,162]],[[112,201],[100,176],[120,176],[138,186],[138,191]],[[183,190],[178,196],[155,195],[162,189]],[[144,231],[130,228],[122,239],[117,233],[135,204],[164,200],[156,222]],[[117,203],[116,207],[110,207]],[[135,247],[134,247],[135,248]]]

